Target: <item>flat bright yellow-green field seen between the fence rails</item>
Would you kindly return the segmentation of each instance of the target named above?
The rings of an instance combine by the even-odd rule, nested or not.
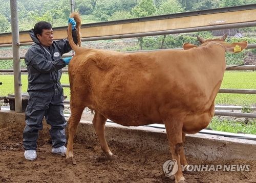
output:
[[[0,96],[14,93],[13,75],[0,75]],[[61,84],[69,84],[69,76],[63,73]],[[27,75],[22,75],[22,91],[27,91]],[[229,89],[256,89],[256,72],[225,72],[221,88]],[[69,88],[64,88],[64,94],[70,97]],[[219,93],[216,98],[216,104],[234,104],[241,106],[251,106],[256,104],[256,95],[254,94],[225,94]]]

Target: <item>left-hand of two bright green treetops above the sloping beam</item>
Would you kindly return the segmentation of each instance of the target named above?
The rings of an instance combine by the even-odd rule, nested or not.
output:
[[[134,17],[145,17],[153,15],[156,10],[153,1],[141,0],[140,3],[131,10],[131,13]]]

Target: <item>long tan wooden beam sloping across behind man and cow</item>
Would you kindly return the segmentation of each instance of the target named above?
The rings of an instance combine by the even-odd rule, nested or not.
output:
[[[133,33],[146,33],[165,30],[176,30],[186,28],[199,28],[211,25],[223,25],[232,23],[243,23],[256,21],[256,6],[255,9],[245,9],[238,11],[215,12],[212,14],[194,14],[188,16],[190,12],[180,13],[181,16],[165,15],[154,17],[146,17],[141,20],[136,19],[114,22],[100,22],[83,24],[81,29],[82,38],[125,35]],[[217,9],[216,9],[217,10]],[[210,10],[209,10],[210,11]],[[200,12],[200,11],[198,11]],[[205,10],[204,10],[205,12]],[[191,13],[190,13],[191,14]],[[159,18],[159,19],[158,19]],[[140,20],[140,21],[139,21]],[[54,39],[62,39],[67,37],[67,27],[54,28]],[[0,34],[0,44],[10,44],[12,41],[11,33]],[[20,43],[31,42],[28,31],[20,32]]]

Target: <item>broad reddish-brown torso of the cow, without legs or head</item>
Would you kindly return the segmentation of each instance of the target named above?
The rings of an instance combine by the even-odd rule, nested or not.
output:
[[[87,106],[105,117],[123,125],[161,123],[162,115],[177,110],[209,110],[223,77],[218,71],[223,63],[212,58],[219,61],[222,56],[200,51],[127,54],[92,50],[70,69],[82,70],[73,77],[83,77],[80,80],[88,85]]]

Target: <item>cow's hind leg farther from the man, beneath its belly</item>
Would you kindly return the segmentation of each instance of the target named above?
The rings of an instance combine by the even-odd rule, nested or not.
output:
[[[110,151],[108,143],[106,143],[106,139],[105,139],[105,134],[104,134],[105,123],[106,123],[106,118],[96,111],[93,118],[93,126],[99,138],[101,149],[106,155],[106,158],[108,158],[109,160],[114,160],[115,155]]]

